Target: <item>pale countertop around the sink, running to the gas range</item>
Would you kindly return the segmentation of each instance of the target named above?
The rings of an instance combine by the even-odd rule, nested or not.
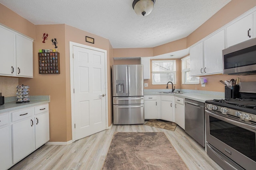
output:
[[[205,102],[206,100],[213,100],[213,99],[222,99],[224,96],[213,96],[207,94],[198,94],[198,93],[160,93],[160,92],[144,92],[144,95],[170,95],[170,96],[177,96],[179,98],[186,98],[191,100],[196,100],[198,102]]]

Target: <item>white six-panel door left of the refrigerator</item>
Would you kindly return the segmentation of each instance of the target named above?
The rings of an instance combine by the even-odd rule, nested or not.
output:
[[[75,140],[106,129],[105,54],[73,46]]]

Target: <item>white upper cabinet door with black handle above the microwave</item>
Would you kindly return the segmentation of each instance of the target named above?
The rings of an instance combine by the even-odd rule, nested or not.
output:
[[[250,14],[227,27],[227,47],[253,38],[252,15]]]

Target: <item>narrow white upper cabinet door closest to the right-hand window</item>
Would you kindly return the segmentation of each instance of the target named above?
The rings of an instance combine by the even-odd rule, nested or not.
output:
[[[204,68],[204,45],[203,42],[190,48],[190,75],[203,75]]]

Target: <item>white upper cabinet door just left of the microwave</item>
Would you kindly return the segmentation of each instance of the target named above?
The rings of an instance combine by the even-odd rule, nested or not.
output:
[[[222,73],[222,50],[225,49],[225,31],[204,41],[204,74]]]

